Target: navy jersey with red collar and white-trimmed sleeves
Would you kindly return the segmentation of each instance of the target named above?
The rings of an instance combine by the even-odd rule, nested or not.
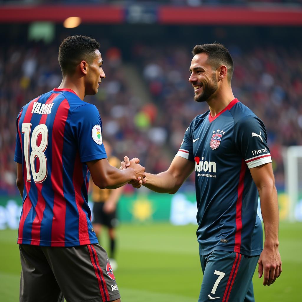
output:
[[[249,169],[271,162],[263,122],[234,99],[215,117],[210,111],[195,117],[176,155],[195,163],[201,255],[259,255],[259,195]]]

